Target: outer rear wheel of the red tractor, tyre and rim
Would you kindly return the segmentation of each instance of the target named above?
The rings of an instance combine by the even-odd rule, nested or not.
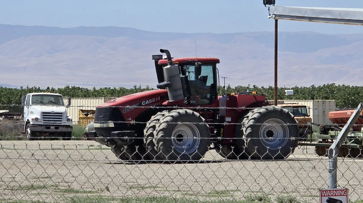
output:
[[[256,108],[245,116],[243,123],[246,149],[255,158],[285,159],[294,153],[300,130],[287,109],[277,106]]]

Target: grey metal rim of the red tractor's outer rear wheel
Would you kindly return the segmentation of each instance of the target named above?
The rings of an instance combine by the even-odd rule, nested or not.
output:
[[[280,119],[268,119],[260,128],[262,144],[270,149],[279,149],[286,145],[289,138],[289,129]],[[276,125],[277,124],[277,125]]]

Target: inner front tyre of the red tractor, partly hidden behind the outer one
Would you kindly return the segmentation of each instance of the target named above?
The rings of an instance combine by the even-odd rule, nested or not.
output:
[[[147,156],[150,157],[150,160],[159,160],[160,157],[158,155],[158,150],[155,149],[154,139],[148,139],[149,137],[154,138],[154,131],[156,128],[156,124],[159,123],[160,119],[164,117],[169,111],[162,111],[156,113],[154,116],[146,124],[144,129],[144,148],[146,150]]]

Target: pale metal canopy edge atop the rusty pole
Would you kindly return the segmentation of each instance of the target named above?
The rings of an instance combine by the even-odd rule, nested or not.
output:
[[[269,18],[333,24],[363,25],[361,8],[270,6]]]

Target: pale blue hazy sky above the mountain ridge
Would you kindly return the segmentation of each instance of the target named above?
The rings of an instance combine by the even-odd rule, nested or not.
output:
[[[276,0],[276,5],[363,8],[361,0]],[[262,0],[0,1],[0,23],[57,27],[119,26],[156,32],[273,31]],[[281,31],[363,33],[363,26],[281,21]]]

